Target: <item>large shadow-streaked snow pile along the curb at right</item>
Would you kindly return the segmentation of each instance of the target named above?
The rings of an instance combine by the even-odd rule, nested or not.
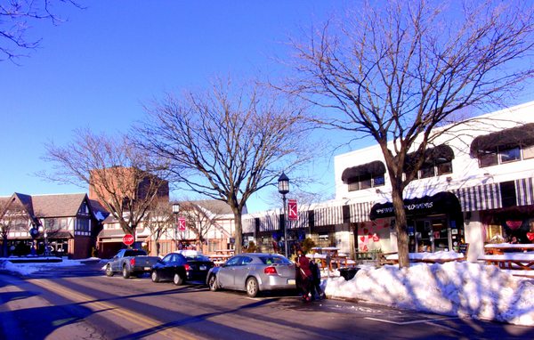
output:
[[[328,279],[329,296],[450,316],[534,326],[534,280],[479,263],[366,267],[354,279]]]

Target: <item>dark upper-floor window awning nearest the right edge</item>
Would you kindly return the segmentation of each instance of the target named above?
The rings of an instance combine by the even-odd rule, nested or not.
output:
[[[534,123],[476,137],[471,142],[471,157],[496,152],[498,147],[514,148],[519,145],[534,145]]]

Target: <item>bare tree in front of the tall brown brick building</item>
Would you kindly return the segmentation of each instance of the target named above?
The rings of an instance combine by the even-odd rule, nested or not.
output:
[[[168,182],[158,161],[125,136],[110,137],[78,130],[65,146],[48,143],[44,160],[53,163],[47,179],[89,187],[125,233],[136,227],[157,198],[168,199]]]

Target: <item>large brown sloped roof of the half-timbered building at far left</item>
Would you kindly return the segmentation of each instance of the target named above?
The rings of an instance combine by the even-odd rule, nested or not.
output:
[[[34,214],[38,217],[76,216],[86,195],[59,194],[35,195],[31,197]]]

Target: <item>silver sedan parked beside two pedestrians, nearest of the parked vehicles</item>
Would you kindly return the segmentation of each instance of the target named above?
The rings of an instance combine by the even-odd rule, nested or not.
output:
[[[246,290],[254,297],[264,290],[295,289],[295,264],[276,254],[247,253],[232,256],[207,273],[210,290]]]

